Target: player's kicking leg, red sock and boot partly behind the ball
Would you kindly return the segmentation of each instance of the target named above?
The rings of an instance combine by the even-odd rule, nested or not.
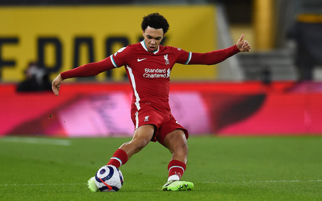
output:
[[[138,127],[134,131],[132,140],[122,144],[118,150],[114,152],[107,165],[114,165],[119,168],[121,165],[125,164],[133,154],[141,151],[150,142],[154,130],[155,126],[152,124]],[[87,181],[87,186],[92,192],[98,191],[98,188],[95,185],[95,177],[92,177]]]

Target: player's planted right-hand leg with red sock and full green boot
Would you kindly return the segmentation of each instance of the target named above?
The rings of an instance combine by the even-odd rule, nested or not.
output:
[[[194,184],[180,181],[186,169],[188,146],[185,133],[182,129],[175,129],[164,138],[164,146],[172,153],[168,165],[168,182],[162,187],[163,190],[191,190]]]

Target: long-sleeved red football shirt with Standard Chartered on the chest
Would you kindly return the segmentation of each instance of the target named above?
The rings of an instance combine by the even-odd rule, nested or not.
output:
[[[149,52],[144,41],[123,47],[99,62],[85,64],[61,73],[63,79],[97,75],[125,66],[133,92],[131,114],[149,105],[170,114],[170,74],[175,63],[213,65],[238,53],[236,45],[207,53],[187,52],[180,48],[159,45]]]

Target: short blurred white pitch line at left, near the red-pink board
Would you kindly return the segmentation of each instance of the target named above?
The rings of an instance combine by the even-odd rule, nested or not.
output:
[[[52,139],[52,138],[37,138],[37,137],[14,137],[6,136],[0,138],[0,142],[15,142],[15,143],[28,143],[28,144],[49,144],[49,145],[71,145],[69,140]]]

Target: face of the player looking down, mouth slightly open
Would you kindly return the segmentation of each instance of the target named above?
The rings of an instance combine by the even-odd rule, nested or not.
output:
[[[150,52],[157,50],[164,36],[163,29],[155,29],[147,26],[146,30],[143,30],[142,32],[147,50]]]

